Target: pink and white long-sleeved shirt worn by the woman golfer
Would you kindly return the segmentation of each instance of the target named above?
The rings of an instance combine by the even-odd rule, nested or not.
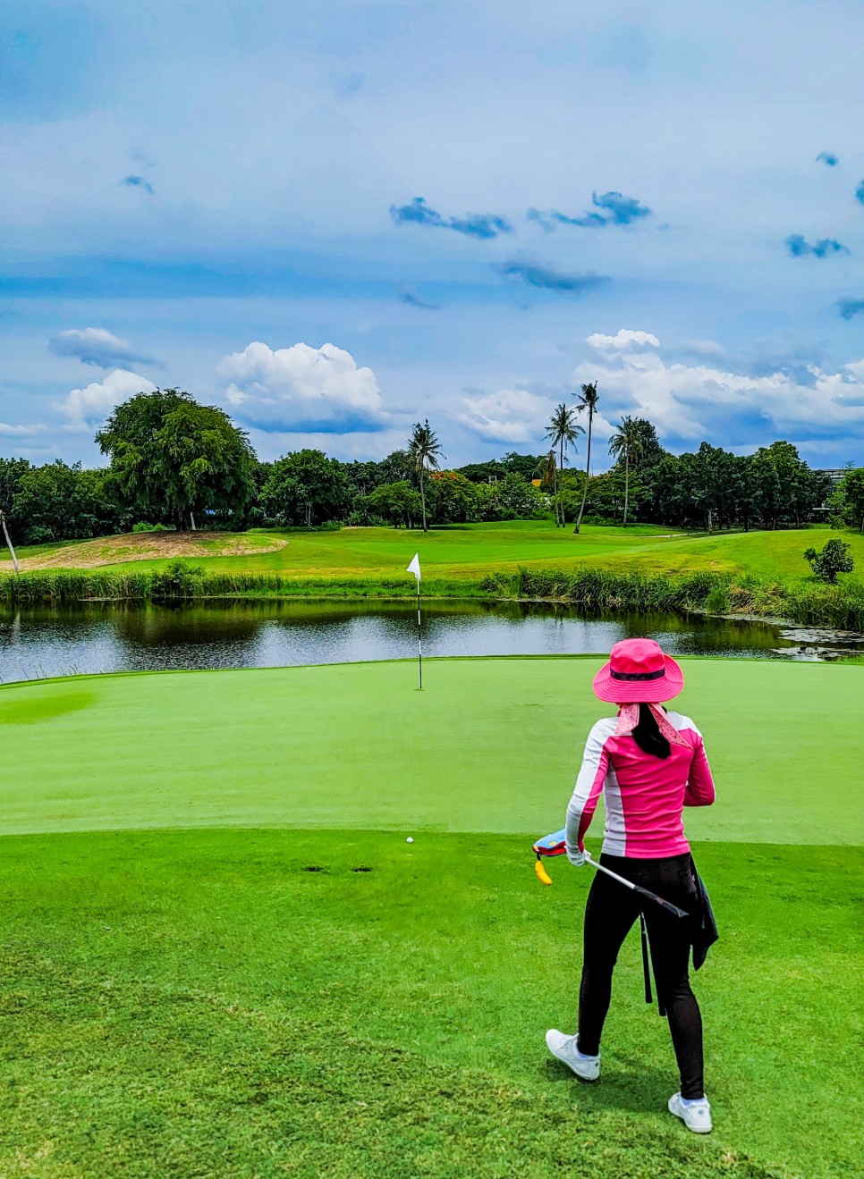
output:
[[[606,717],[591,729],[567,809],[569,850],[584,850],[601,791],[606,809],[602,850],[607,855],[660,859],[690,850],[682,809],[711,806],[714,782],[702,735],[690,718],[680,712],[666,716],[682,738],[670,745],[667,758],[646,753],[631,733],[618,735],[617,717]]]

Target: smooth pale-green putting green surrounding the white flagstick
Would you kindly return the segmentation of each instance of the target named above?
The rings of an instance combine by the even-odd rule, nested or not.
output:
[[[0,690],[0,832],[288,825],[559,826],[601,660],[76,678]],[[718,805],[696,839],[862,842],[864,670],[689,659]],[[600,824],[597,823],[597,829]]]

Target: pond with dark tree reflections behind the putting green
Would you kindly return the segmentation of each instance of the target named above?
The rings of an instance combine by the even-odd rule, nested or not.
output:
[[[536,602],[426,601],[427,656],[603,654],[636,634],[672,654],[809,658],[864,651],[770,623],[675,614],[591,618]],[[862,637],[855,637],[862,640]],[[0,610],[0,680],[90,672],[410,659],[417,612],[401,601],[81,602]]]

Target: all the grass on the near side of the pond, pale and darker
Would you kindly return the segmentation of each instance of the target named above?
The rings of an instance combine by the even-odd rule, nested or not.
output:
[[[722,935],[702,1140],[665,1111],[635,937],[601,1084],[542,1042],[572,1026],[590,876],[542,889],[529,844],[597,664],[1,689],[0,1175],[851,1174],[864,672],[686,661],[719,786],[687,816]]]

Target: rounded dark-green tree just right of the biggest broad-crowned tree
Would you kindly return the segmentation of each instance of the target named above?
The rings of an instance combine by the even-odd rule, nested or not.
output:
[[[352,487],[342,463],[322,450],[296,450],[277,459],[261,490],[266,514],[281,523],[313,523],[345,519]]]

